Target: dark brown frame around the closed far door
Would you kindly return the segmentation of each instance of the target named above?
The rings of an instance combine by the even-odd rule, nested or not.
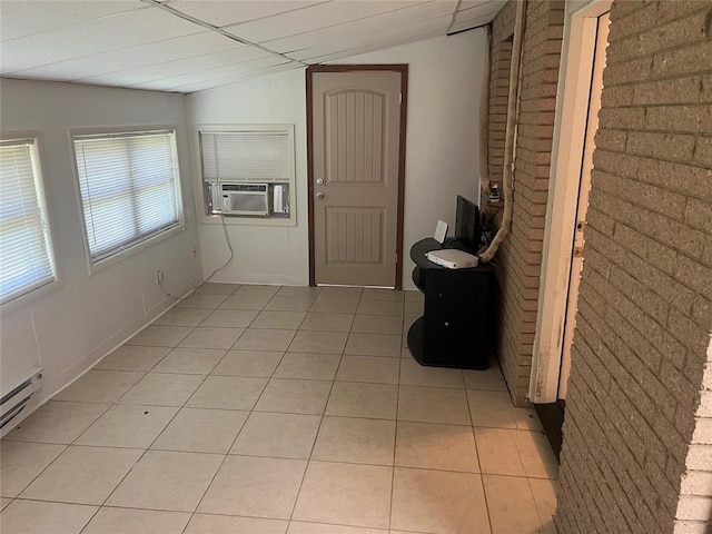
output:
[[[307,67],[307,197],[309,224],[309,286],[316,286],[314,250],[314,109],[313,75],[315,72],[399,72],[400,73],[400,125],[398,139],[398,212],[396,215],[396,277],[395,288],[403,288],[403,220],[405,206],[405,141],[408,115],[408,66],[407,65],[312,65]]]

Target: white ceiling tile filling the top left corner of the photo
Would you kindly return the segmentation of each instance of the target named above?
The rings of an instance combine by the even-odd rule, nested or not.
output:
[[[140,0],[110,2],[2,0],[0,2],[0,40],[4,42],[145,7],[146,3]]]

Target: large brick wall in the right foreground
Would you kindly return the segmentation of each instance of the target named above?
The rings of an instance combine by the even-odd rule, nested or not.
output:
[[[611,10],[555,517],[566,534],[706,532],[711,21],[709,0]]]

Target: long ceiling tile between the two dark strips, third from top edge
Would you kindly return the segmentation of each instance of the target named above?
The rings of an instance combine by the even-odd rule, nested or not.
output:
[[[451,12],[452,6],[448,6],[448,2],[412,3],[407,8],[397,11],[389,11],[367,19],[354,20],[284,39],[267,41],[263,46],[283,53],[295,52],[353,37],[369,36],[443,16],[451,17]],[[294,55],[290,56],[296,57]]]

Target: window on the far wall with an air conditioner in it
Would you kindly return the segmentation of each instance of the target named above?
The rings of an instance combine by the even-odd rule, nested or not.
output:
[[[224,128],[198,132],[206,214],[294,225],[294,126]]]

